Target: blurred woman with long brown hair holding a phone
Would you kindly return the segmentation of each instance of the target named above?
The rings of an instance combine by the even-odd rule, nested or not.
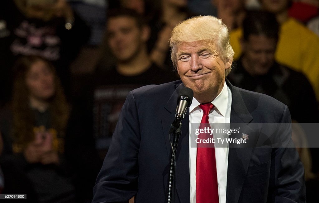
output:
[[[11,127],[3,130],[6,125],[0,122],[2,136],[10,140],[6,143],[12,143],[12,149],[7,145],[5,151],[16,155],[13,160],[21,170],[14,170],[19,177],[24,176],[29,181],[35,194],[34,201],[75,202],[75,188],[66,176],[64,159],[70,107],[55,69],[44,58],[23,56],[16,62],[15,70],[11,110],[1,119]],[[2,164],[5,181],[12,181],[12,177],[6,178],[9,165]],[[10,172],[11,176],[16,174]],[[14,190],[14,187],[9,188]]]

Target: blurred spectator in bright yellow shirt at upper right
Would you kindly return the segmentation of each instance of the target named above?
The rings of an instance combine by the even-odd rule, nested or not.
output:
[[[275,13],[280,24],[280,34],[275,58],[296,71],[304,73],[319,100],[319,37],[306,26],[288,16],[290,0],[260,0],[266,11]],[[234,59],[241,56],[242,29],[230,33],[230,43],[234,49]]]

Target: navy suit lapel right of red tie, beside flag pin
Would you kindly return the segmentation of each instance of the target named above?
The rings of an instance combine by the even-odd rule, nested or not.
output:
[[[253,118],[241,97],[240,91],[226,80],[232,92],[232,109],[230,128],[236,128],[236,123],[250,123]],[[247,128],[249,128],[247,126]],[[232,135],[231,135],[232,136]],[[252,148],[229,147],[226,202],[238,202],[241,189],[247,174]]]

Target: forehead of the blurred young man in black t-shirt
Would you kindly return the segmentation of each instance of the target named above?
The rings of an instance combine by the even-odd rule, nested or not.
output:
[[[110,17],[107,23],[107,29],[113,30],[121,27],[137,27],[137,21],[130,16]]]

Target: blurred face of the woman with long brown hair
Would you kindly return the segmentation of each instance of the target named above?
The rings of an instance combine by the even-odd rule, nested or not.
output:
[[[26,73],[26,85],[31,97],[46,100],[55,92],[54,74],[45,62],[36,61]]]

